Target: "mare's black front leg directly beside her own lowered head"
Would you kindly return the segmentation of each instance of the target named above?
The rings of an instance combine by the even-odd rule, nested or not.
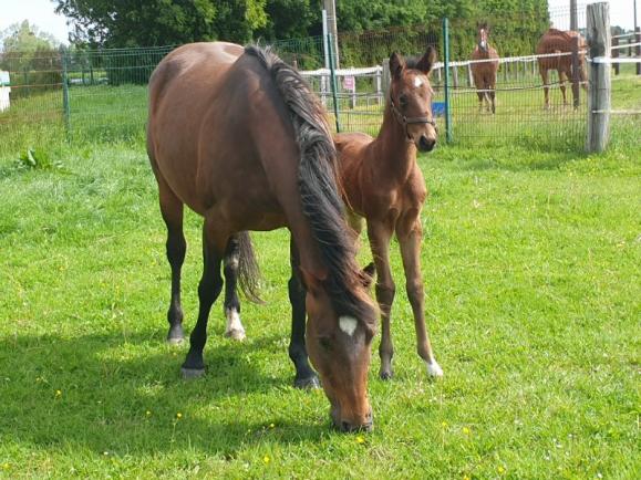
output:
[[[291,303],[291,338],[289,342],[289,357],[296,368],[293,386],[297,388],[318,388],[319,380],[317,374],[309,365],[307,348],[304,346],[304,286],[301,281],[298,249],[290,240],[291,279],[287,284],[289,290],[289,302]]]

